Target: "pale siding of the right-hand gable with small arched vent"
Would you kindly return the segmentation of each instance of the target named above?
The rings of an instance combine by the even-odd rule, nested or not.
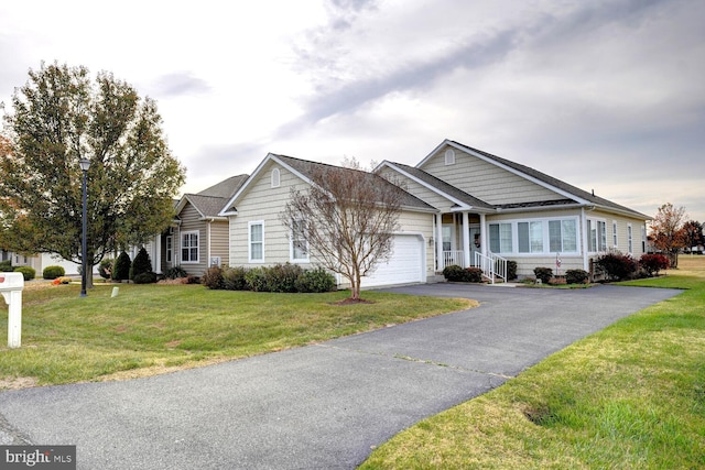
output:
[[[495,205],[560,200],[565,197],[495,164],[455,149],[455,164],[445,164],[446,146],[421,170]]]

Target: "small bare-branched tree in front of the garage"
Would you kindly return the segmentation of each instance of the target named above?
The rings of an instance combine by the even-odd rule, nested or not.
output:
[[[405,193],[399,186],[360,170],[308,162],[311,186],[292,188],[280,215],[295,249],[307,251],[316,264],[350,282],[350,299],[360,299],[361,277],[392,253],[393,233]]]

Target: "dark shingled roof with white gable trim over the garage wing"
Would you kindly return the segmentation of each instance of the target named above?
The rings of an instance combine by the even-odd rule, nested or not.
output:
[[[286,170],[292,172],[294,175],[296,175],[307,184],[313,184],[314,175],[316,171],[318,171],[319,168],[332,168],[332,170],[341,171],[341,172],[362,172],[361,170],[345,168],[343,166],[330,165],[327,163],[318,163],[318,162],[312,162],[308,160],[295,159],[293,156],[288,156],[288,155],[268,153],[264,160],[254,170],[254,172],[252,172],[252,175],[248,178],[248,181],[238,189],[238,192],[224,206],[223,210],[219,212],[220,216],[237,214],[237,208],[235,207],[236,203],[247,192],[247,188],[249,187],[249,185],[253,184],[252,182],[257,179],[257,175],[262,172],[262,170],[269,162],[272,162],[272,161],[285,167]],[[402,188],[399,188],[398,186],[392,185],[392,183],[388,182],[381,176],[373,173],[368,173],[368,172],[362,172],[362,173],[370,175],[370,177],[379,178],[380,185],[391,185],[395,189],[402,192],[403,193],[402,201],[401,201],[402,208],[411,209],[411,210],[421,210],[421,211],[435,211],[434,207],[430,206],[429,204],[424,203],[423,200],[419,199],[412,194],[409,194]]]

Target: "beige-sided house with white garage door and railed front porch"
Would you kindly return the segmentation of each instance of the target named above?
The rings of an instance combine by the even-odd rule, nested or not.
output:
[[[315,264],[279,220],[291,189],[312,184],[315,165],[323,164],[264,157],[218,214],[229,221],[228,264]],[[520,276],[536,266],[588,271],[608,250],[636,258],[646,251],[648,216],[455,141],[443,141],[415,166],[384,161],[376,173],[402,181],[409,197],[392,256],[364,280],[367,287],[438,280],[451,264],[506,276],[507,260]]]

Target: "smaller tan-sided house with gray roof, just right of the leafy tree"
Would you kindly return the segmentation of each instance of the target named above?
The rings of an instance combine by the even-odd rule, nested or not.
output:
[[[247,177],[231,176],[178,200],[171,227],[148,247],[155,272],[181,266],[200,276],[208,267],[228,262],[228,218],[219,212]]]

